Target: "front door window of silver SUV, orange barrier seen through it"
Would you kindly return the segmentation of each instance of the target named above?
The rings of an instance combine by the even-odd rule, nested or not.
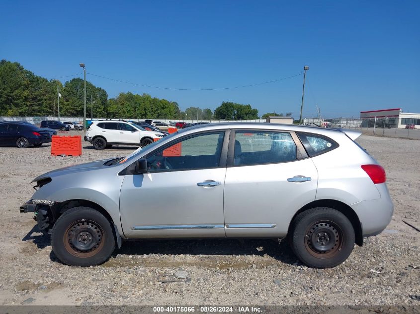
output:
[[[225,131],[183,138],[147,157],[149,172],[216,168],[220,165]]]

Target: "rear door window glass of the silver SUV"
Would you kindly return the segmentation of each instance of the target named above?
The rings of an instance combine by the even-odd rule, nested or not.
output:
[[[288,132],[236,131],[234,165],[261,165],[296,160],[296,144]]]

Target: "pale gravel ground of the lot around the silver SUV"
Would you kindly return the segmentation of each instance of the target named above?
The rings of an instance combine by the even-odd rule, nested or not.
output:
[[[420,229],[420,141],[363,135],[358,142],[386,169],[395,214],[385,232],[325,270],[303,266],[285,241],[272,240],[129,242],[103,265],[63,265],[32,215],[19,214],[29,182],[135,147],[96,151],[83,143],[81,157],[51,157],[49,145],[2,147],[0,305],[420,305],[420,232],[403,222]],[[187,282],[158,282],[178,269]]]

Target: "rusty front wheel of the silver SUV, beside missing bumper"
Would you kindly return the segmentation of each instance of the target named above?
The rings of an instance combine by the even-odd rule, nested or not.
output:
[[[104,215],[80,206],[57,219],[51,232],[51,246],[63,263],[87,267],[108,260],[115,250],[115,239],[111,223]]]

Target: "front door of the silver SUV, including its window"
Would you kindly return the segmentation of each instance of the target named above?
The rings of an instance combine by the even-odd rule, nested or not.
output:
[[[227,140],[225,130],[200,132],[148,154],[148,173],[126,175],[121,187],[124,234],[224,237]]]

